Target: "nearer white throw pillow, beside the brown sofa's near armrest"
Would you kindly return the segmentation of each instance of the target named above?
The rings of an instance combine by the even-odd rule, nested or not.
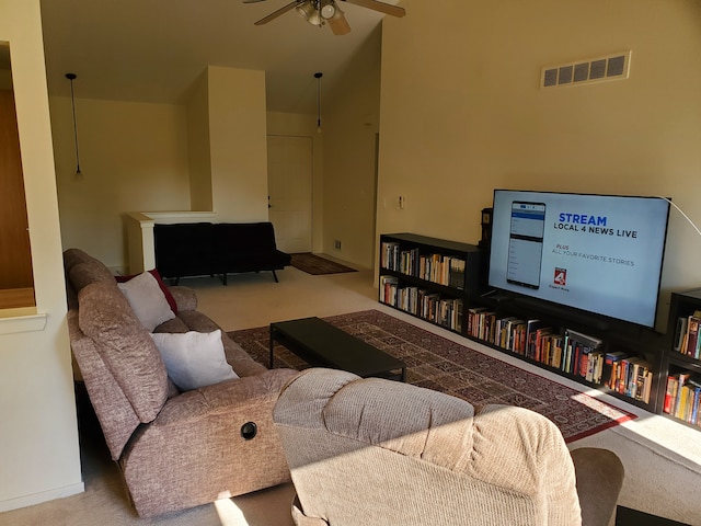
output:
[[[152,333],[168,376],[182,391],[239,378],[227,363],[221,331]]]

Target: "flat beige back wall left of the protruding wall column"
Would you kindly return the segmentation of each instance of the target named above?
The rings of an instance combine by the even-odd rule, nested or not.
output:
[[[122,270],[125,211],[189,209],[186,107],[77,99],[79,174],[71,101],[50,108],[62,244]]]

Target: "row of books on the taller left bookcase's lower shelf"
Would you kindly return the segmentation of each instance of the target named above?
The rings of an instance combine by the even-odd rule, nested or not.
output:
[[[380,301],[452,331],[462,332],[464,318],[460,298],[441,298],[418,287],[400,287],[394,276],[380,276]]]

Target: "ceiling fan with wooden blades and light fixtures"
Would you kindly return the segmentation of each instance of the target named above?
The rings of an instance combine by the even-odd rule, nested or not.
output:
[[[265,0],[243,0],[243,3],[257,3]],[[399,5],[379,2],[378,0],[295,0],[277,11],[273,11],[267,16],[255,22],[255,25],[263,25],[295,9],[307,22],[319,27],[329,24],[334,35],[345,35],[350,31],[350,25],[346,20],[338,2],[355,3],[363,8],[391,14],[392,16],[404,16],[406,11]]]

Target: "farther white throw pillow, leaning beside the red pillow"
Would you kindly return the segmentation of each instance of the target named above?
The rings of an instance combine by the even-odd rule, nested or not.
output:
[[[158,281],[143,272],[128,282],[117,283],[141,324],[152,332],[164,321],[175,318]]]

